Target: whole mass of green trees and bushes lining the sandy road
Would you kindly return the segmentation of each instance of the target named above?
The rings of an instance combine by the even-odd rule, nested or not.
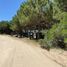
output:
[[[28,30],[42,32],[43,47],[67,48],[67,0],[27,0],[12,20],[0,23],[0,33],[22,37]]]

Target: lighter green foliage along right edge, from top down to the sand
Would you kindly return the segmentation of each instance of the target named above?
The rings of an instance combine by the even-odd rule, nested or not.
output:
[[[56,23],[49,30],[44,30],[43,33],[45,35],[44,40],[42,40],[43,45],[52,47],[61,47],[63,49],[67,48],[67,12],[61,8],[61,3],[64,3],[61,0],[53,1],[53,18],[60,20],[59,23]],[[60,5],[60,6],[58,6]]]

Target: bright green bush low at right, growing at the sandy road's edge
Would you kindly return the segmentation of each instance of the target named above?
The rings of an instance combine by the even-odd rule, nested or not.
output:
[[[41,40],[41,45],[46,44],[47,47],[58,47],[62,49],[67,48],[67,28],[65,22],[54,24],[51,29],[43,30],[42,33],[45,35],[44,39]]]

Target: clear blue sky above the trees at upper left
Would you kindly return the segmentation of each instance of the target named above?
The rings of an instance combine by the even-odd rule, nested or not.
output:
[[[11,20],[25,0],[0,0],[0,21]]]

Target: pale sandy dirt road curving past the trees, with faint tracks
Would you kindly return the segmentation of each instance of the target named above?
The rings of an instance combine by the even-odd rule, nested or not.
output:
[[[0,67],[62,67],[24,39],[0,35]]]

